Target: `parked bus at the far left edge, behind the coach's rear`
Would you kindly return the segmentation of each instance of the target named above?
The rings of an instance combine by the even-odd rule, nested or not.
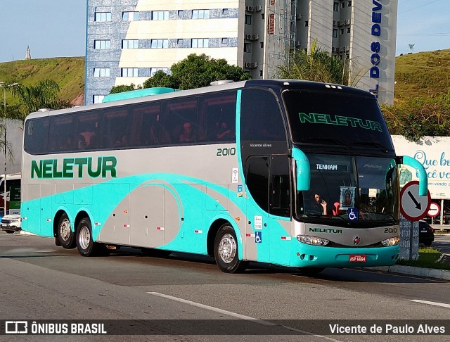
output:
[[[0,217],[20,213],[20,173],[0,175]],[[5,196],[6,179],[6,196]],[[5,203],[6,198],[6,203]],[[6,208],[5,208],[6,205]],[[6,209],[6,210],[5,210]]]

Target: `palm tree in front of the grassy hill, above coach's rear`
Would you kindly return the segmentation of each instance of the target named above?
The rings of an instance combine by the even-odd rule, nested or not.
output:
[[[58,99],[59,86],[53,80],[41,80],[30,86],[17,83],[11,87],[11,91],[20,103],[20,111],[15,118],[22,121],[28,114],[41,108],[61,109],[72,106],[69,101]]]

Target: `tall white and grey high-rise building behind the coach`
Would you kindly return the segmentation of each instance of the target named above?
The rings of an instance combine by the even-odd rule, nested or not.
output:
[[[86,104],[142,84],[191,53],[274,78],[314,40],[350,58],[350,80],[394,101],[397,0],[88,0]]]

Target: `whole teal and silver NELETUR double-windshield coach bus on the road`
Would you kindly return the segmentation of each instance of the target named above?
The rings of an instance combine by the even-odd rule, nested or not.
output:
[[[22,229],[83,256],[120,246],[211,255],[223,272],[250,261],[305,272],[394,264],[399,165],[416,167],[420,196],[427,177],[395,155],[375,97],[297,80],[223,83],[30,114]]]

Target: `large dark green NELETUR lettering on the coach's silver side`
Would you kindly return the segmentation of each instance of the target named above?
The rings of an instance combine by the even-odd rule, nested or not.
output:
[[[92,157],[64,158],[63,163],[58,159],[41,159],[31,161],[31,177],[34,178],[92,178],[117,177],[117,159],[115,157],[98,157],[94,163]],[[75,170],[74,170],[75,167]],[[86,174],[87,172],[87,174]]]

